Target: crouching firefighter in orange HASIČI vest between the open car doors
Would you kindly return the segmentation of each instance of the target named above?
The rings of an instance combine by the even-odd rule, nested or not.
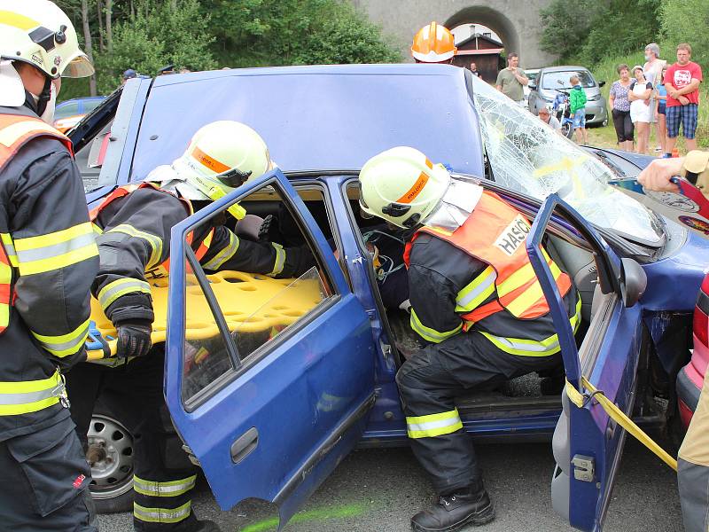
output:
[[[440,497],[411,525],[452,531],[487,523],[495,511],[454,399],[561,364],[526,254],[530,225],[494,192],[452,178],[414,148],[379,153],[359,178],[365,212],[414,231],[404,252],[410,325],[427,345],[401,365],[396,382],[411,448]],[[575,331],[580,299],[546,259]]]

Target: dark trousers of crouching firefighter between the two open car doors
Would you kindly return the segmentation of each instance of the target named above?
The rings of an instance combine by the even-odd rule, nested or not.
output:
[[[559,364],[558,354],[514,356],[495,348],[479,332],[462,332],[430,344],[401,365],[396,382],[411,449],[440,495],[481,481],[455,397]]]

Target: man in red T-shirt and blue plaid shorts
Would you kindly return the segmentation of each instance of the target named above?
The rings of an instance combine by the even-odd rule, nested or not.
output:
[[[688,151],[697,149],[697,114],[699,111],[699,83],[702,68],[690,61],[692,47],[687,43],[677,45],[677,62],[667,68],[665,74],[667,141],[665,157],[672,157],[672,150],[680,134]]]

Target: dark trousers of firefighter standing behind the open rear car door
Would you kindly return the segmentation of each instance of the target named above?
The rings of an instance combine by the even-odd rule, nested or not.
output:
[[[147,356],[117,367],[77,364],[66,377],[72,416],[84,442],[99,395],[135,436],[133,525],[140,532],[198,528],[191,512],[197,468],[166,429],[170,421],[162,395],[164,360],[163,349],[152,348]],[[170,456],[175,454],[181,456],[175,460]]]

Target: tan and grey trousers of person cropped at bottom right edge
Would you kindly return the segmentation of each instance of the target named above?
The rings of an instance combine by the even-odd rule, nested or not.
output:
[[[707,369],[709,371],[709,368]],[[699,395],[677,456],[677,483],[686,532],[709,530],[709,379]]]

